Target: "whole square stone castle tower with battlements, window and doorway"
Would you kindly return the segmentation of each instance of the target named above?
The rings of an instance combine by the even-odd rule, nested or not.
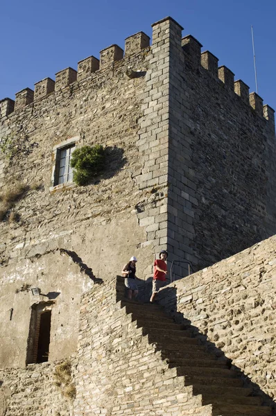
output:
[[[166,249],[179,279],[276,233],[274,110],[201,47],[167,17],[0,101],[1,367],[40,362],[42,324],[49,361],[74,354],[82,293],[131,255],[144,280]]]

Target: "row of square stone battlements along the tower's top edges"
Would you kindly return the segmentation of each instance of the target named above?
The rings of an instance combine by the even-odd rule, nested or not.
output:
[[[162,21],[168,19],[171,19],[171,17]],[[162,21],[153,24],[153,28]],[[171,21],[175,22],[173,19]],[[180,27],[179,24],[178,26]],[[155,39],[153,39],[154,43]],[[93,73],[105,71],[124,58],[135,56],[135,54],[140,53],[149,46],[150,37],[148,35],[144,32],[135,33],[126,38],[124,51],[117,44],[112,44],[100,51],[99,59],[93,55],[89,56],[78,62],[77,70],[68,67],[55,73],[55,80],[44,78],[35,83],[35,91],[30,88],[22,89],[15,94],[15,102],[10,98],[5,98],[0,103],[0,116],[8,116],[13,111],[21,110],[26,105],[33,103],[33,101],[38,101],[49,94],[59,92],[73,83],[84,80]],[[264,116],[271,123],[275,123],[273,109],[269,107],[270,111],[268,111],[268,106],[263,105],[263,100],[255,92],[249,94],[248,85],[243,83],[242,80],[234,80],[234,73],[229,68],[225,67],[225,65],[218,67],[218,58],[212,52],[201,52],[202,44],[195,37],[192,35],[184,36],[181,46],[184,52],[184,60],[189,65],[189,68],[194,71],[198,68],[205,69],[213,78],[220,80],[230,93],[234,92],[241,98],[243,103],[250,105],[258,116]]]

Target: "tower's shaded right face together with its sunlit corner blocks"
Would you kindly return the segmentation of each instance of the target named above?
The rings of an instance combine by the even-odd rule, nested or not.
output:
[[[181,31],[153,24],[137,141],[137,181],[153,192],[138,218],[178,278],[184,261],[198,270],[276,232],[273,110]]]

